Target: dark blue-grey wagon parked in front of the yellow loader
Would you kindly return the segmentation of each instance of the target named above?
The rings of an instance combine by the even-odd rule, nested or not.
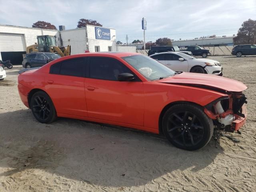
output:
[[[61,56],[56,53],[49,52],[34,52],[26,54],[22,61],[24,68],[42,67],[50,61],[60,58]]]

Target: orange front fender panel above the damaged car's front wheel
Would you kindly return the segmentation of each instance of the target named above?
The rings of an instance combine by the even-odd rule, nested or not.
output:
[[[144,82],[144,126],[158,129],[159,117],[165,106],[175,102],[190,102],[205,106],[226,94],[192,86],[160,82]]]

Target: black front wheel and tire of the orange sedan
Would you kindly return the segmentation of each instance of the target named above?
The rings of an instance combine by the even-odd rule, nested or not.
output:
[[[174,146],[193,151],[208,144],[214,125],[200,106],[176,104],[164,114],[162,128],[164,135]]]

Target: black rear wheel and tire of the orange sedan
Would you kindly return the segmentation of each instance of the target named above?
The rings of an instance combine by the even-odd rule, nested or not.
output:
[[[30,108],[36,120],[41,123],[51,123],[57,118],[51,98],[43,91],[34,93],[30,100]]]

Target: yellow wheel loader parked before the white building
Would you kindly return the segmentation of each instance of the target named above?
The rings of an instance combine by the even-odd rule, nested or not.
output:
[[[26,52],[52,52],[58,53],[60,56],[68,56],[71,53],[71,46],[58,47],[56,46],[56,36],[41,35],[37,36],[37,43],[27,47]]]

